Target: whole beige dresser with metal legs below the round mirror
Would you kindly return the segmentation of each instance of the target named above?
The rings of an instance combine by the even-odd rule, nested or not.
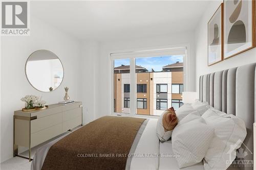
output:
[[[82,103],[53,104],[47,109],[32,112],[17,110],[14,111],[13,121],[13,156],[23,157],[18,155],[18,146],[27,147],[27,159],[31,161],[32,147],[82,126]]]

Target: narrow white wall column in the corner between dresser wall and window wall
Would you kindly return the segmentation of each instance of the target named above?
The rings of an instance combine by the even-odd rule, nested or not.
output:
[[[87,124],[95,119],[96,108],[99,103],[96,101],[98,91],[96,84],[101,76],[98,74],[99,43],[96,41],[81,42],[80,72],[81,77],[81,100],[83,102],[83,123]],[[103,85],[104,83],[101,82]]]

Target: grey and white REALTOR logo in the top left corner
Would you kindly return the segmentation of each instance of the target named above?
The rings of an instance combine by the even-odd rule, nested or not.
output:
[[[29,2],[2,2],[1,35],[29,35]]]

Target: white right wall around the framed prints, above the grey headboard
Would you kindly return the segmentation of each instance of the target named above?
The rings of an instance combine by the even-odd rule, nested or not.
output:
[[[196,28],[196,89],[199,90],[199,76],[210,72],[220,71],[256,62],[256,48],[221,61],[212,66],[207,66],[207,23],[218,9],[222,1],[212,1],[205,10],[198,27]]]

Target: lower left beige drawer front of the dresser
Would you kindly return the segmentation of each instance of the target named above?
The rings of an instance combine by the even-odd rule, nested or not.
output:
[[[58,136],[62,133],[62,124],[57,124],[55,126],[49,127],[47,129],[38,131],[31,134],[31,147],[36,146],[42,142],[45,142],[55,136]]]

